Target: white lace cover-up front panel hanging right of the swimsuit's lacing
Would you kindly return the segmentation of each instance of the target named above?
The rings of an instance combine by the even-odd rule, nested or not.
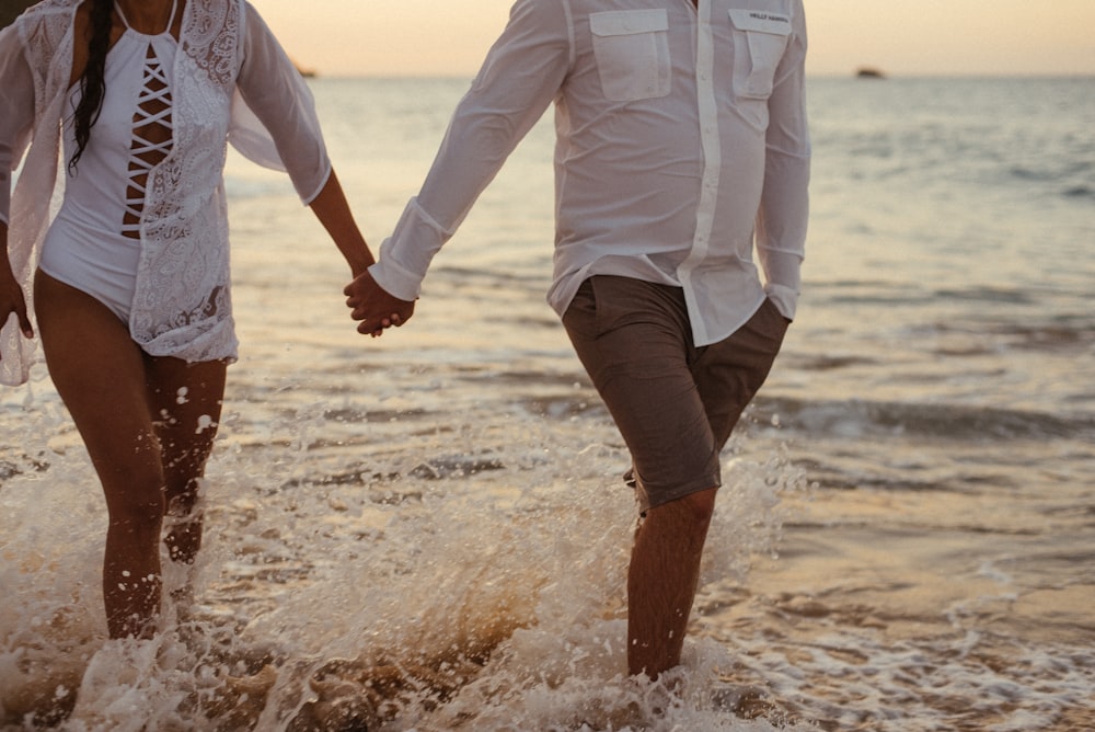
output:
[[[149,173],[130,316],[135,340],[152,355],[187,361],[235,355],[221,171],[240,12],[238,2],[191,0],[183,15],[175,94],[185,103],[174,105],[171,153]]]

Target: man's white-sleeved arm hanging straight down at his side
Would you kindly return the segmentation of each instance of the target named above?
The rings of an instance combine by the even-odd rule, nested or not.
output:
[[[794,32],[769,99],[764,190],[757,217],[757,253],[764,270],[765,289],[787,320],[795,317],[802,286],[810,178],[806,20],[803,3],[795,4]]]

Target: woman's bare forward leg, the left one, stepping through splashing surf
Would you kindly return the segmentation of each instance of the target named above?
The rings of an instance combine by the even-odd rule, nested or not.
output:
[[[149,637],[160,607],[164,477],[149,419],[145,355],[125,323],[90,295],[39,272],[34,299],[49,375],[106,496],[103,599],[110,634]]]

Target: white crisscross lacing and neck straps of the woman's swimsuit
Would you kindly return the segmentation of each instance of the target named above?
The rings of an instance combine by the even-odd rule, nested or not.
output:
[[[175,22],[177,5],[178,0],[171,5],[171,18],[164,33],[170,33]],[[131,27],[117,2],[114,8],[126,27]],[[171,102],[168,69],[150,39],[145,55],[141,90],[134,112],[134,134],[129,146],[129,187],[126,190],[126,211],[122,219],[122,235],[130,239],[140,238],[148,175],[172,149]]]

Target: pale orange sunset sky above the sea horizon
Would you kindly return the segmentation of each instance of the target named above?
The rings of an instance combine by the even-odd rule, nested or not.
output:
[[[325,76],[470,77],[512,4],[252,2],[289,54]],[[814,75],[1095,75],[1095,0],[806,0],[806,12]]]

